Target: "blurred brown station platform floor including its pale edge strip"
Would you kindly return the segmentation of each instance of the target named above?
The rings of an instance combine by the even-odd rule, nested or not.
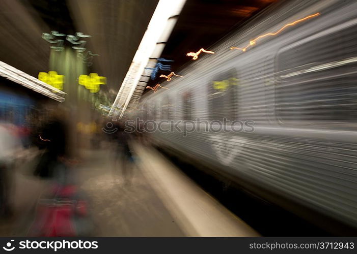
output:
[[[89,201],[92,236],[258,236],[154,148],[133,144],[135,161],[124,171],[118,152],[105,147],[84,152],[74,174]],[[35,164],[16,169],[15,215],[0,221],[0,236],[26,235],[50,184],[31,175]]]

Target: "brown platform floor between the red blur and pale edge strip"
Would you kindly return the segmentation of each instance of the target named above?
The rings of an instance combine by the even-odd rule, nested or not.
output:
[[[184,236],[148,179],[131,167],[124,179],[116,154],[95,152],[80,169],[80,187],[87,194],[95,236]]]

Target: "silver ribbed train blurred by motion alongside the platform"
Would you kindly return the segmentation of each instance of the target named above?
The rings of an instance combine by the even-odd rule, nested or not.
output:
[[[230,50],[315,13],[245,52]],[[188,130],[202,123],[180,120],[251,120],[254,130],[183,135],[163,122],[172,131],[155,129],[153,142],[268,200],[357,228],[357,2],[278,3],[207,50],[215,54],[174,70],[184,78],[161,83],[170,90],[144,94],[143,117]]]

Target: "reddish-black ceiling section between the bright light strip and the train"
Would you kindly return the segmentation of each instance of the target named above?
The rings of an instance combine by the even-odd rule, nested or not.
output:
[[[161,57],[172,59],[172,70],[188,64],[188,52],[209,47],[276,0],[187,0]],[[158,73],[159,77],[164,72]],[[166,72],[167,74],[167,72]],[[149,81],[155,86],[160,79]],[[149,92],[147,89],[144,92]]]

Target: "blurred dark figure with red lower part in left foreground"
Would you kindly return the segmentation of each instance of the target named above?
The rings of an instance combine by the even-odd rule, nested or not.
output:
[[[56,110],[38,133],[45,151],[35,174],[50,178],[51,183],[39,199],[28,236],[88,236],[92,230],[87,199],[74,180],[73,169],[79,162],[69,156],[66,119],[65,111]]]

